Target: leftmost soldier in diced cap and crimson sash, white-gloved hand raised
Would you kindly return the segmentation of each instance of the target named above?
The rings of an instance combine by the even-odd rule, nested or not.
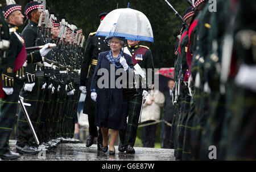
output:
[[[25,42],[16,32],[18,26],[23,24],[21,8],[11,2],[7,3],[4,9],[10,27],[10,48],[6,50],[7,63],[3,66],[1,75],[0,157],[8,160],[20,157],[19,154],[10,151],[8,142],[15,123],[19,92],[26,79],[23,66],[26,66],[26,63],[43,61],[43,56],[51,50],[48,44],[40,51],[27,54]]]

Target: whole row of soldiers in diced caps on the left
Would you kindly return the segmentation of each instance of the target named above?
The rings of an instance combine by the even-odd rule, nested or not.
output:
[[[1,19],[0,157],[16,159],[19,153],[49,151],[72,139],[80,93],[80,68],[84,56],[82,29],[65,18],[56,18],[42,2],[24,8],[7,1]],[[5,29],[3,31],[3,29]],[[2,44],[5,43],[5,44]],[[38,50],[40,49],[40,50]],[[18,100],[26,105],[36,141],[26,114],[20,109],[16,123],[16,151],[9,137],[16,122]]]

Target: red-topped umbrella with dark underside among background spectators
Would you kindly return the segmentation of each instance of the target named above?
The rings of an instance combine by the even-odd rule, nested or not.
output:
[[[155,75],[159,75],[159,83],[157,89],[159,89],[160,92],[164,93],[169,90],[168,88],[168,81],[170,79],[174,80],[174,67],[172,68],[160,68],[158,72],[155,72]]]

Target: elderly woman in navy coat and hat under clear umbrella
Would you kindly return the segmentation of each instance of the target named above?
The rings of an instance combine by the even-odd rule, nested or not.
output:
[[[112,155],[115,154],[114,143],[118,130],[124,130],[126,127],[126,117],[123,113],[123,109],[125,109],[123,107],[123,89],[117,87],[118,85],[115,83],[123,74],[127,74],[129,68],[133,68],[133,61],[130,55],[122,51],[124,45],[122,38],[108,37],[105,42],[110,45],[111,50],[100,53],[98,57],[92,79],[91,98],[96,101],[95,122],[102,131],[104,146],[102,151],[108,151],[108,132],[110,129],[109,154]],[[118,69],[122,72],[115,74]],[[108,74],[104,72],[104,75],[101,76],[101,71],[108,71]],[[118,75],[118,73],[121,74]],[[101,77],[104,79],[99,80]],[[104,87],[99,87],[100,84]]]

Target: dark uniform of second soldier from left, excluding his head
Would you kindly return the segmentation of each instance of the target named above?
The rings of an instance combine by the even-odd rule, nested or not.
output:
[[[22,31],[22,36],[26,42],[26,47],[44,45],[42,35],[38,34],[38,24],[31,21]],[[30,53],[28,51],[28,53]],[[42,111],[42,86],[44,84],[44,71],[38,65],[28,65],[26,67],[27,80],[26,83],[35,83],[32,92],[22,90],[22,97],[24,102],[31,104],[27,107],[27,112],[30,115],[31,122],[35,127],[36,133],[38,133],[38,126]],[[24,147],[24,144],[35,144],[32,132],[26,122],[23,111],[19,111],[18,123],[17,123],[17,143],[19,147]],[[40,136],[38,136],[40,137]]]

